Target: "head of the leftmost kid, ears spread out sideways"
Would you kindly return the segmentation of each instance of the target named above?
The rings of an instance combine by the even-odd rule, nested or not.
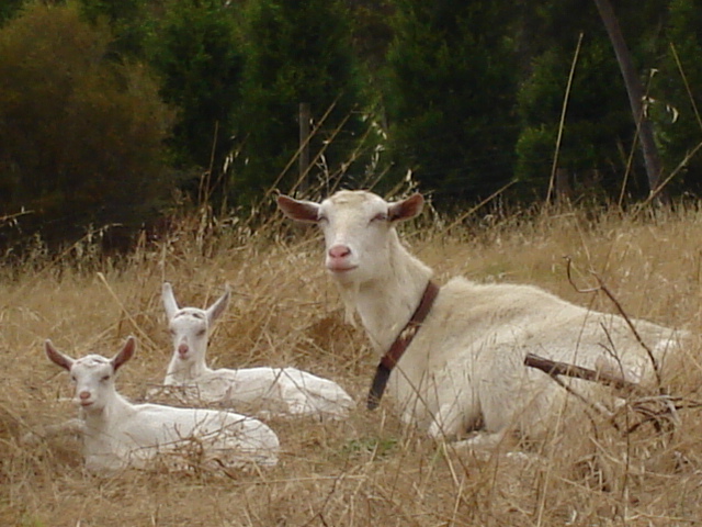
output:
[[[134,337],[127,338],[122,350],[112,359],[105,359],[101,355],[72,359],[58,351],[50,340],[46,340],[44,349],[52,362],[70,372],[70,378],[76,384],[76,404],[86,412],[101,412],[114,393],[114,374],[134,356],[136,340]]]

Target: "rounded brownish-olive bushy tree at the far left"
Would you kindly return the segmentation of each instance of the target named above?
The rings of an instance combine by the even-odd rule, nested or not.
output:
[[[171,113],[141,65],[105,58],[106,27],[32,4],[0,30],[0,214],[33,211],[49,242],[87,225],[138,226],[168,181]]]

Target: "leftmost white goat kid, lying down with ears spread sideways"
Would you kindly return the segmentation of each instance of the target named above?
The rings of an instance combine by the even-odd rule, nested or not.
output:
[[[112,359],[72,359],[46,340],[48,358],[68,370],[81,418],[69,422],[83,440],[86,468],[102,473],[145,468],[159,453],[170,466],[206,469],[278,462],[278,436],[260,421],[234,412],[132,404],[115,389],[115,373],[136,348],[129,337]]]

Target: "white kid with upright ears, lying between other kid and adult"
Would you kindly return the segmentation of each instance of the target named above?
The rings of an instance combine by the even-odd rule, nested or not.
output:
[[[173,341],[173,356],[163,383],[195,392],[205,403],[241,405],[262,415],[346,418],[354,402],[333,381],[296,368],[207,367],[210,329],[229,302],[225,292],[206,310],[179,307],[170,283],[163,283],[162,300]]]

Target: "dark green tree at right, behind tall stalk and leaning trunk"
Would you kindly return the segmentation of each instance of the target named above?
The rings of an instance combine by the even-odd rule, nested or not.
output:
[[[618,20],[644,87],[658,65],[657,34],[665,10],[661,1],[616,3]],[[636,126],[612,43],[592,0],[540,4],[524,2],[523,48],[532,57],[518,94],[522,130],[516,173],[522,194],[546,197],[568,71],[578,35],[582,35],[566,109],[556,167],[568,175],[576,197],[626,194],[645,197],[649,186],[639,155]],[[633,165],[630,166],[631,153]],[[624,184],[626,183],[625,188]]]

